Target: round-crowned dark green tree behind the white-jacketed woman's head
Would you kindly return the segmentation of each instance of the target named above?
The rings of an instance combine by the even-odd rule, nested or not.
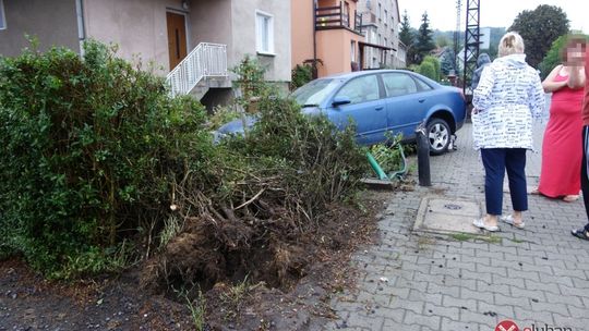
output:
[[[540,4],[533,11],[522,11],[515,19],[509,30],[518,32],[526,42],[526,59],[531,66],[537,66],[552,42],[566,35],[569,21],[566,13],[556,5]]]

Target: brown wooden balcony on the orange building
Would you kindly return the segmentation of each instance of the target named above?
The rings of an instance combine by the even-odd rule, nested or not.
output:
[[[350,21],[349,10],[340,1],[339,5],[315,7],[315,29],[346,28],[362,34],[362,15],[353,12],[353,22]],[[352,25],[353,23],[353,25]]]

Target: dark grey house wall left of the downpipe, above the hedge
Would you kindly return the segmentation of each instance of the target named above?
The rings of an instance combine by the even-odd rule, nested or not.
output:
[[[75,0],[3,0],[7,29],[0,30],[0,54],[14,57],[37,37],[39,50],[64,46],[80,51]]]

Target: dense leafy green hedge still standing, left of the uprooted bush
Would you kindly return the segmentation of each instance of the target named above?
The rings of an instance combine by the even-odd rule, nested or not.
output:
[[[53,277],[124,265],[172,184],[209,160],[203,108],[85,45],[0,59],[0,250]],[[161,226],[159,226],[161,228]],[[141,242],[136,242],[140,243]]]

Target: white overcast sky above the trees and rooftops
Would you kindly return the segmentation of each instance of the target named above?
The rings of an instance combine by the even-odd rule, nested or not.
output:
[[[466,26],[466,2],[461,0],[460,29]],[[398,0],[402,17],[405,10],[411,26],[418,28],[421,15],[428,11],[430,27],[441,30],[454,30],[456,26],[456,0]],[[557,5],[570,20],[572,29],[589,33],[589,1],[587,0],[480,0],[481,27],[509,27],[517,14],[524,10],[533,10],[540,4]]]

